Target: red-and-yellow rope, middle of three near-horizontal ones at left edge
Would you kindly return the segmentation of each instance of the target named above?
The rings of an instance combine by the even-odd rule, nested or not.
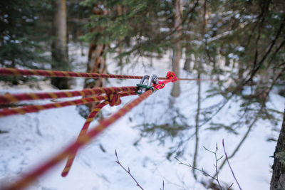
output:
[[[6,93],[4,95],[0,95],[0,104],[8,104],[20,102],[23,100],[44,100],[44,99],[57,99],[61,97],[76,97],[83,96],[86,97],[88,95],[102,94],[102,93],[117,93],[117,92],[128,92],[135,91],[138,87],[135,86],[125,86],[125,87],[111,87],[111,88],[87,88],[83,90],[76,91],[60,91],[60,92],[52,92],[52,93],[22,93],[11,95]]]

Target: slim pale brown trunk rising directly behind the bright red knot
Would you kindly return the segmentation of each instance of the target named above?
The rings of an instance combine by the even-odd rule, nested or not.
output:
[[[175,0],[175,39],[177,43],[173,48],[173,60],[172,60],[172,70],[174,71],[177,78],[179,78],[179,63],[181,58],[181,37],[182,37],[182,0]],[[180,83],[177,80],[173,83],[171,90],[171,95],[173,97],[178,97],[180,95]]]

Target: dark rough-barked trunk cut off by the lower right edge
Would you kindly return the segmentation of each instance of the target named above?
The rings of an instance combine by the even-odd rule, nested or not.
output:
[[[285,189],[285,110],[278,142],[274,152],[270,190]]]

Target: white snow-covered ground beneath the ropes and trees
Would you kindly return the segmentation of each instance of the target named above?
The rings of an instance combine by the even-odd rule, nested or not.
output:
[[[78,71],[85,71],[79,63],[86,62],[86,56],[81,56],[77,50],[72,50],[78,63]],[[77,54],[76,54],[77,53]],[[87,54],[87,53],[86,53]],[[123,74],[145,75],[155,73],[165,76],[169,68],[169,56],[160,60],[153,60],[153,67],[148,65],[150,60],[136,60],[137,64],[127,65]],[[135,60],[133,61],[135,62]],[[115,73],[116,63],[108,60],[108,72]],[[181,70],[181,78],[194,78],[194,75]],[[139,80],[108,80],[108,86],[136,85]],[[83,80],[74,82],[74,88],[81,89]],[[166,139],[164,144],[154,141],[155,137],[140,139],[138,125],[155,123],[157,125],[171,122],[174,110],[184,115],[185,121],[190,125],[185,130],[185,137],[190,137],[194,132],[195,110],[197,109],[197,84],[193,81],[181,81],[182,93],[175,100],[175,105],[170,109],[170,90],[172,84],[158,90],[142,104],[135,107],[125,117],[118,120],[114,125],[100,134],[92,143],[84,147],[78,153],[70,173],[65,178],[61,177],[64,162],[41,176],[28,189],[138,189],[133,179],[115,163],[115,149],[118,152],[120,162],[130,171],[135,179],[145,190],[158,190],[165,182],[165,189],[204,189],[201,183],[195,181],[192,169],[179,164],[175,159],[171,162],[166,159],[166,154],[177,139]],[[202,82],[202,97],[206,97],[211,83]],[[43,90],[54,90],[46,84],[41,84]],[[1,87],[1,93],[22,93],[34,91],[29,88]],[[108,117],[120,107],[127,104],[133,97],[123,97],[122,104],[116,107],[106,106],[103,115]],[[221,97],[213,97],[202,102],[202,107],[208,107],[219,102]],[[283,112],[284,97],[271,93],[269,106]],[[45,100],[44,102],[48,102]],[[215,122],[229,123],[237,117],[238,102],[229,102],[213,120]],[[281,118],[280,118],[281,119]],[[15,115],[0,118],[0,130],[6,133],[0,134],[0,189],[1,184],[14,181],[30,169],[41,164],[56,152],[60,152],[69,143],[73,142],[83,123],[84,118],[78,114],[75,106],[63,107],[52,110],[44,110],[26,115]],[[90,127],[94,127],[97,121],[93,121]],[[242,145],[233,159],[230,159],[235,175],[243,189],[269,189],[271,179],[271,164],[276,142],[267,142],[269,137],[278,138],[278,130],[272,130],[271,125],[264,121],[258,121],[249,137]],[[281,126],[281,122],[279,125]],[[247,129],[241,128],[239,135],[230,134],[227,131],[217,132],[205,130],[209,125],[204,125],[199,130],[199,156],[198,167],[203,168],[209,174],[214,175],[214,155],[205,151],[214,150],[216,143],[219,147],[218,155],[222,156],[222,139],[226,143],[228,154],[232,153],[239,140]],[[138,145],[133,144],[138,141]],[[104,151],[103,151],[104,149]],[[192,163],[195,149],[195,139],[190,138],[187,142],[185,154],[180,160]],[[198,181],[207,181],[209,177],[197,172]],[[231,171],[224,166],[219,179],[222,184],[232,184],[232,189],[238,189]]]

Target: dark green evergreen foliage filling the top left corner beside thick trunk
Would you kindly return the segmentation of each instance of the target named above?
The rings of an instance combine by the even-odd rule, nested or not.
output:
[[[6,68],[43,68],[48,59],[43,56],[46,51],[39,42],[41,26],[38,12],[43,9],[39,1],[1,1],[0,2],[0,65]],[[42,64],[37,64],[42,63]],[[18,84],[29,78],[1,77],[1,80]]]

